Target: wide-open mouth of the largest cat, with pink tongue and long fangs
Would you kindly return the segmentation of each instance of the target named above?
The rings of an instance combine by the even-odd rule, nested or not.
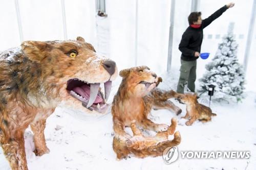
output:
[[[67,82],[67,90],[75,99],[81,101],[82,106],[89,110],[104,112],[108,108],[106,101],[111,92],[112,82],[104,83],[104,96],[100,91],[100,83],[87,83],[77,78]]]

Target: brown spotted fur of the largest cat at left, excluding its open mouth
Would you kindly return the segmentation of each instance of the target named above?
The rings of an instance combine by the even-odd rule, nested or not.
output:
[[[71,57],[72,51],[77,52]],[[24,131],[34,133],[35,154],[49,153],[44,129],[46,118],[65,105],[90,112],[70,95],[67,81],[88,83],[115,79],[102,66],[109,59],[99,57],[82,37],[68,41],[25,41],[20,47],[0,54],[0,144],[11,169],[26,170]]]

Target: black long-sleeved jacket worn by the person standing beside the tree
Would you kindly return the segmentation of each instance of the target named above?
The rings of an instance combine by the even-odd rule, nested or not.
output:
[[[212,21],[217,19],[223,12],[228,8],[226,5],[220,8],[215,13],[211,14],[208,18],[202,20],[202,25],[200,28],[192,28],[189,26],[186,31],[183,33],[179,50],[181,51],[181,59],[184,61],[193,61],[198,59],[195,57],[195,52],[201,51],[201,45],[203,41],[203,29],[207,27]]]

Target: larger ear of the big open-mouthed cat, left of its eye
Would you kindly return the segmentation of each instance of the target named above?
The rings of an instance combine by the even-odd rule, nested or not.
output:
[[[41,61],[51,52],[53,46],[44,41],[24,41],[22,50],[32,61]]]

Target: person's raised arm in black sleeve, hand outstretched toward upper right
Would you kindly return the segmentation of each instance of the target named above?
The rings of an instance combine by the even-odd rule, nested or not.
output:
[[[208,18],[202,21],[202,28],[204,29],[205,27],[207,27],[212,21],[221,16],[223,12],[225,12],[228,8],[232,8],[233,6],[234,3],[229,3],[217,10],[215,13],[211,14]]]

